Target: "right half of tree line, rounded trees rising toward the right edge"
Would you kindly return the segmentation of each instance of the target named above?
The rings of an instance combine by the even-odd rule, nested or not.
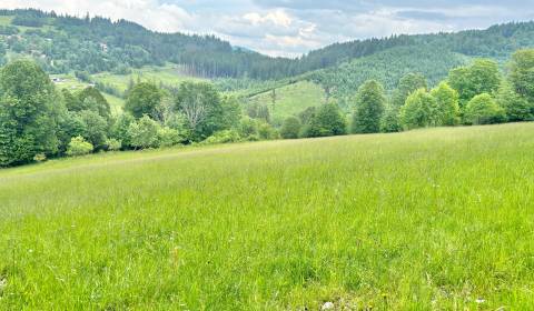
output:
[[[534,120],[534,50],[516,51],[506,74],[490,59],[457,67],[435,88],[425,76],[408,73],[388,96],[367,80],[350,98],[347,118],[338,102],[308,108],[284,121],[283,138],[399,132],[428,127],[475,126]]]

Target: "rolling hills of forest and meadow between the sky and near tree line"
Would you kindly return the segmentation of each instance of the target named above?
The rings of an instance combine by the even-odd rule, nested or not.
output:
[[[433,86],[452,68],[474,58],[504,62],[513,51],[526,47],[534,47],[534,22],[356,40],[283,59],[231,47],[215,37],[158,33],[125,20],[0,10],[0,63],[31,57],[61,79],[63,87],[96,84],[116,112],[131,81],[176,87],[185,80],[208,79],[247,103],[270,107],[277,120],[294,114],[306,102],[323,102],[323,97],[335,98],[349,110],[350,97],[367,79],[392,90],[404,74],[419,72]],[[280,103],[275,101],[277,110],[271,109],[273,91],[280,93]]]

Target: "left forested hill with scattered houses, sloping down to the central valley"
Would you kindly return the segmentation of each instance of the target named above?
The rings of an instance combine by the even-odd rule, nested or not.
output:
[[[128,68],[184,64],[204,77],[270,78],[291,74],[288,59],[274,59],[212,36],[160,33],[137,23],[106,18],[76,18],[39,10],[0,10],[2,50],[31,54],[51,73],[72,70],[97,73]],[[2,42],[3,41],[3,42]],[[283,72],[274,72],[279,68]]]

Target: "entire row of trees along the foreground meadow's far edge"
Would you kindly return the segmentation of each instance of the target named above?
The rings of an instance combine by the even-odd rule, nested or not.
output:
[[[17,60],[0,70],[0,167],[177,144],[532,121],[533,70],[534,50],[526,49],[513,54],[506,74],[497,62],[477,59],[432,89],[421,73],[403,77],[390,94],[368,80],[352,97],[352,114],[330,99],[277,128],[268,109],[243,109],[239,99],[208,82],[160,88],[139,81],[129,88],[123,112],[113,116],[98,89],[58,90],[37,63]]]

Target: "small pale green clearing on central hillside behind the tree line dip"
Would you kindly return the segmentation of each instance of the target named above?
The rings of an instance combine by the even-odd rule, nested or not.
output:
[[[275,104],[271,92],[253,97],[249,103],[266,104],[275,122],[281,123],[287,117],[298,114],[308,107],[317,107],[325,100],[325,91],[320,86],[301,81],[276,89]]]

